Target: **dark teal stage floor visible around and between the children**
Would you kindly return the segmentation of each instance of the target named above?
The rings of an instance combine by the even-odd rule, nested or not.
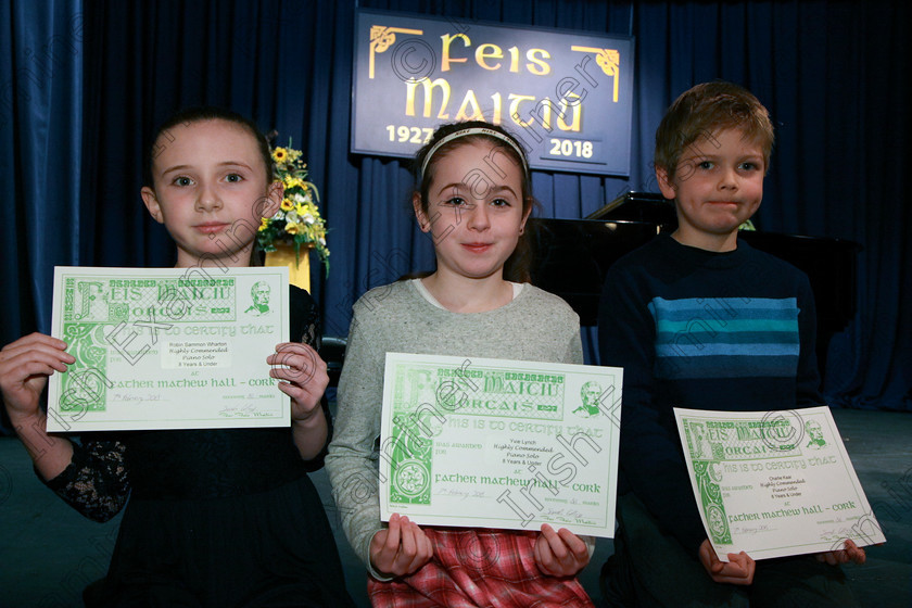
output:
[[[912,606],[912,415],[835,410],[846,447],[887,536],[869,548],[867,563],[847,567],[864,606]],[[326,473],[314,480],[331,505]],[[335,523],[331,507],[327,508]],[[119,517],[98,524],[83,519],[38,482],[22,444],[0,438],[0,607],[81,606],[79,594],[107,568]],[[337,531],[349,588],[369,606],[365,573]],[[599,539],[583,584],[598,598],[597,575],[611,542]]]

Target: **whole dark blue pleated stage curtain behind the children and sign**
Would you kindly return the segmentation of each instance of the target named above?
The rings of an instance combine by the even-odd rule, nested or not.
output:
[[[362,0],[360,7],[632,34],[629,179],[536,173],[546,217],[579,218],[626,190],[656,191],[654,134],[692,85],[750,88],[777,128],[756,217],[771,231],[863,244],[859,312],[832,342],[825,391],[912,409],[909,5],[895,2]],[[198,103],[230,106],[303,149],[332,229],[315,281],[326,333],[345,335],[370,287],[432,267],[401,161],[349,153],[355,2],[0,2],[3,343],[50,325],[52,266],[166,266],[174,248],[139,199],[154,126]],[[43,54],[42,54],[43,53]],[[43,58],[43,59],[42,59]],[[316,278],[316,273],[315,273]],[[590,345],[592,349],[592,345]],[[590,353],[592,357],[592,353]]]

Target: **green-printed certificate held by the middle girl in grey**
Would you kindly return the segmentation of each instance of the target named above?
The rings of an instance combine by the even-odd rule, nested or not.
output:
[[[381,517],[612,537],[621,369],[387,354]]]

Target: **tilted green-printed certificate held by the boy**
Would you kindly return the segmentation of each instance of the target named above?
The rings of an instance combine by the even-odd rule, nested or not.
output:
[[[719,559],[883,543],[828,407],[674,409],[691,483]]]

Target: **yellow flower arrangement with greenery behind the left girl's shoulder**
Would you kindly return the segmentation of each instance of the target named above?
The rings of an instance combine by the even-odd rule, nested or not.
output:
[[[317,206],[320,200],[317,187],[307,181],[307,164],[301,160],[301,151],[291,147],[290,140],[288,148],[273,148],[273,161],[284,186],[284,195],[276,215],[263,218],[256,241],[265,252],[276,251],[277,244],[293,245],[297,261],[301,245],[313,246],[329,275],[326,221]]]

